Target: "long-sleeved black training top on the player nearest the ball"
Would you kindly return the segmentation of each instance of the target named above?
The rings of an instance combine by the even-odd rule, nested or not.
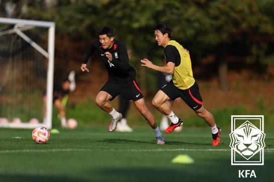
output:
[[[109,80],[116,83],[123,83],[135,80],[136,71],[129,64],[128,52],[126,45],[120,40],[114,40],[114,44],[110,49],[103,49],[99,40],[95,41],[86,52],[83,64],[86,64],[89,57],[94,51],[97,51],[109,73]],[[105,55],[106,52],[112,54],[110,62]]]

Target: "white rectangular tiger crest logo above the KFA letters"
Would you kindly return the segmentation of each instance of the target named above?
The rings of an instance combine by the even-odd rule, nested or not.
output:
[[[263,115],[231,116],[231,165],[263,165]]]

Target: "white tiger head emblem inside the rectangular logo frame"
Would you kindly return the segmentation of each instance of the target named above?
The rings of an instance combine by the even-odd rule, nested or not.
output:
[[[231,139],[230,147],[246,160],[265,147],[265,134],[249,121],[245,121],[229,136]]]

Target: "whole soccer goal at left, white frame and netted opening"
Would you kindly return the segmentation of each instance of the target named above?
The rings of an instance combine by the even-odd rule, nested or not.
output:
[[[39,35],[37,30],[40,29],[47,32]],[[3,77],[0,78],[0,81],[2,79],[0,82],[0,118],[8,118],[11,121],[12,118],[18,117],[16,114],[28,112],[24,115],[22,122],[0,122],[0,127],[44,126],[48,129],[52,128],[54,39],[54,22],[0,17],[0,76]],[[39,42],[43,41],[46,43],[39,45]],[[44,50],[46,46],[47,50]],[[42,90],[44,89],[46,89],[47,101],[46,119],[43,121],[43,114],[41,114],[43,109],[40,105],[43,104]],[[16,93],[17,91],[20,93]],[[16,105],[21,103],[24,106]],[[13,111],[13,106],[18,112]],[[41,113],[37,114],[38,110],[41,110]],[[29,119],[35,116],[40,117],[40,123],[29,122]]]

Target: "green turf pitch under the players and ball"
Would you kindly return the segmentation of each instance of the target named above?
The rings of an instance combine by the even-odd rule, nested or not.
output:
[[[248,181],[274,178],[273,131],[265,132],[263,166],[231,166],[229,130],[215,148],[209,129],[164,135],[165,145],[155,144],[151,129],[60,129],[47,144],[35,144],[31,131],[0,129],[0,181],[238,181],[238,169],[255,170]],[[172,163],[179,154],[194,163]]]

